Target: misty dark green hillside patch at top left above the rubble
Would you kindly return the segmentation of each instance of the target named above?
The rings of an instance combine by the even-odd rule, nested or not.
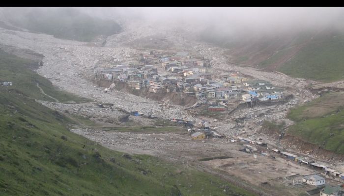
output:
[[[91,17],[74,8],[27,8],[22,13],[13,11],[9,9],[6,12],[13,25],[62,39],[88,42],[97,36],[109,36],[121,30],[115,21]]]

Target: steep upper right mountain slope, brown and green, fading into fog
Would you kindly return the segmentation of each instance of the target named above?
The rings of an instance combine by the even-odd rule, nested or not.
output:
[[[265,35],[205,32],[201,39],[228,48],[234,63],[323,82],[344,79],[343,27],[329,25]]]

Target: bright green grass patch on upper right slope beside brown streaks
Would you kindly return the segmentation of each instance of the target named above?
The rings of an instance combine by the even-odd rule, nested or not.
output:
[[[311,42],[278,71],[323,82],[344,79],[344,36]]]

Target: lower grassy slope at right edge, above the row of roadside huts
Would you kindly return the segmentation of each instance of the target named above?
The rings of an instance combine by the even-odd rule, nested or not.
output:
[[[288,134],[325,149],[344,153],[344,93],[329,93],[291,109],[288,118],[296,123]],[[333,135],[332,135],[332,134]]]

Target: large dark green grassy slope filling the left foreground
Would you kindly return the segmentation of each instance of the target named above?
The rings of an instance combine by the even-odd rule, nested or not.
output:
[[[190,196],[252,195],[210,174],[146,155],[128,159],[71,133],[66,126],[75,122],[35,102],[33,98],[48,98],[29,91],[37,79],[42,84],[48,80],[26,69],[23,59],[1,55],[0,73],[6,71],[16,81],[10,88],[0,87],[1,196],[178,196],[179,190]],[[11,65],[22,65],[22,73],[11,73]],[[25,87],[19,83],[23,78]],[[226,193],[223,186],[229,187]]]

